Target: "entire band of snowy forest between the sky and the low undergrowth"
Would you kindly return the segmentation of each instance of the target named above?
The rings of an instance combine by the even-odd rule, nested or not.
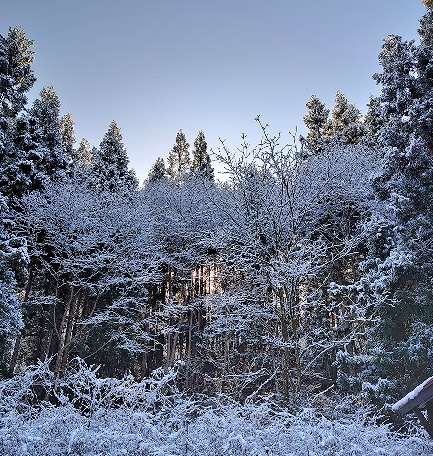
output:
[[[295,410],[337,395],[396,421],[389,405],[433,375],[424,4],[418,45],[384,41],[365,116],[340,92],[331,110],[312,95],[306,137],[284,145],[257,117],[255,147],[209,154],[200,131],[192,159],[180,130],[141,188],[115,121],[99,147],[77,146],[52,86],[27,106],[33,42],[0,35],[4,381],[42,365],[44,400],[77,362],[136,383],[175,370],[188,397]]]

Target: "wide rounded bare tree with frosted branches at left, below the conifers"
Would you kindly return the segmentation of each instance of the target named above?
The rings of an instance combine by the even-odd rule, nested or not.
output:
[[[149,325],[143,285],[157,269],[143,217],[130,197],[86,182],[50,184],[22,201],[17,229],[34,270],[25,337],[36,360],[55,356],[58,372],[77,351],[140,350]]]

